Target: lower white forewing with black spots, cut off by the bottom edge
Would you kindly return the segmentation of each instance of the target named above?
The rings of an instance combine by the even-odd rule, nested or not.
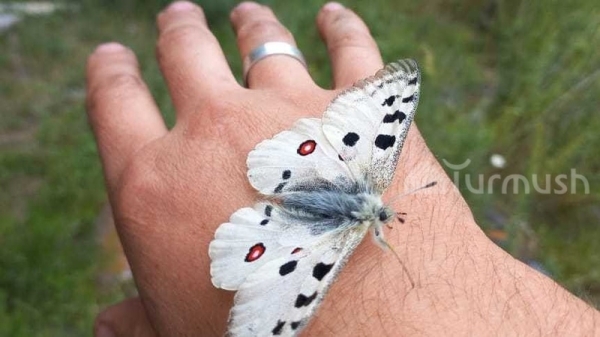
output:
[[[296,336],[308,324],[366,226],[330,232],[297,254],[273,259],[235,295],[229,336]]]

